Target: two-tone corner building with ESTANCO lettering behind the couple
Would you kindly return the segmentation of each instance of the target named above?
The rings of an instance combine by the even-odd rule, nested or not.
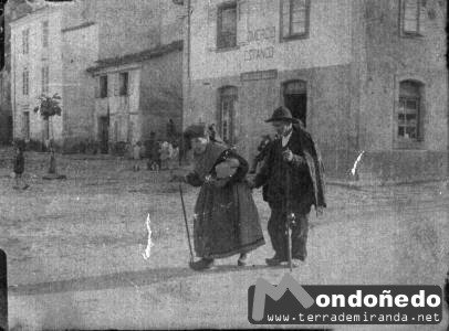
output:
[[[185,126],[216,122],[252,158],[279,105],[330,177],[446,175],[446,1],[184,1]],[[190,9],[187,7],[191,6]]]

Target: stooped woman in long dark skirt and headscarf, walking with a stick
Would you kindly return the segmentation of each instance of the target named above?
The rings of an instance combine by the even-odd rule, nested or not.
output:
[[[215,258],[247,253],[264,245],[259,214],[244,177],[248,162],[226,145],[209,139],[208,128],[190,126],[185,132],[194,150],[194,171],[184,179],[201,186],[195,205],[195,250],[200,260],[196,270],[213,266]]]

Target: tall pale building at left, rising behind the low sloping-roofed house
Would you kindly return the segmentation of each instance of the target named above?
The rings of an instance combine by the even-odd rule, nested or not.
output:
[[[179,11],[177,6],[161,0],[77,0],[46,3],[12,21],[14,137],[44,141],[52,136],[66,151],[114,137],[101,131],[108,131],[108,126],[98,125],[104,114],[96,106],[100,97],[96,92],[104,78],[93,75],[92,68],[104,71],[104,64],[108,63],[115,73],[122,73],[123,67],[117,68],[115,60],[128,61],[133,54],[164,49],[179,41],[181,18],[176,11]],[[175,61],[173,65],[178,64]],[[178,79],[181,79],[180,65]],[[111,114],[136,102],[129,94],[135,90],[136,76],[134,73],[125,76],[125,73],[111,76],[107,88],[121,93],[118,105],[111,105]],[[62,116],[55,116],[51,125],[33,113],[41,94],[62,97]],[[180,107],[178,113],[180,117]]]

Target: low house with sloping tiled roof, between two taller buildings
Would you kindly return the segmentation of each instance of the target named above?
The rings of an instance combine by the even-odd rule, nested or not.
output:
[[[122,57],[105,58],[87,71],[96,78],[94,127],[102,149],[117,142],[167,137],[171,119],[182,120],[182,41]]]

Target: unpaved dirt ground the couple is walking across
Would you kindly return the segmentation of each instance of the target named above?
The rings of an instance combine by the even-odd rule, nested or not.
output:
[[[10,154],[2,151],[2,159]],[[169,173],[133,172],[109,157],[60,156],[66,181],[44,181],[46,156],[27,153],[30,189],[12,190],[0,169],[0,247],[8,253],[10,328],[251,328],[248,287],[278,284],[267,245],[237,268],[187,268],[188,244]],[[8,162],[3,162],[8,164]],[[185,186],[189,218],[197,189]],[[328,209],[311,216],[309,259],[293,276],[304,285],[441,285],[448,269],[448,191],[441,183],[328,188]],[[262,226],[270,211],[254,192]],[[145,220],[155,246],[145,260]],[[447,322],[445,314],[445,322]],[[331,327],[334,330],[445,330],[443,324]]]

